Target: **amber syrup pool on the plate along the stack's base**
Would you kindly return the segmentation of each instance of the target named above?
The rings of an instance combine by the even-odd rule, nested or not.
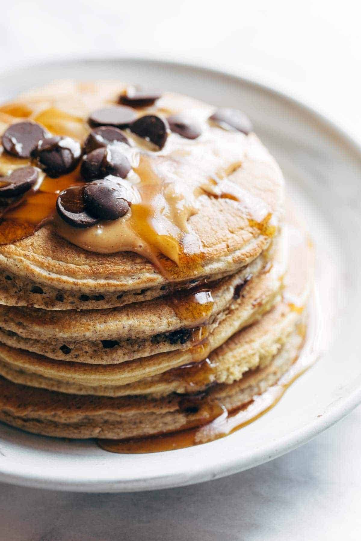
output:
[[[303,328],[300,329],[301,335],[303,332]],[[181,399],[181,410],[194,415],[178,432],[127,440],[97,439],[97,444],[103,450],[112,453],[157,453],[192,447],[229,436],[253,423],[277,405],[288,387],[310,368],[315,360],[313,355],[296,358],[276,385],[233,410],[227,410],[220,401],[212,401],[205,394]],[[209,368],[212,370],[210,365]],[[175,370],[189,370],[189,367]]]

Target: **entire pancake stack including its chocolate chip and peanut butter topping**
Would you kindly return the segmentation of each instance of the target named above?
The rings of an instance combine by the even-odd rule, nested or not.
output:
[[[29,432],[207,441],[303,344],[313,250],[250,121],[137,92],[0,107],[0,420]]]

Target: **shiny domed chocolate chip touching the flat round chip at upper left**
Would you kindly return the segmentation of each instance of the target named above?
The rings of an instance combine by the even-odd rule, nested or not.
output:
[[[47,137],[38,142],[31,154],[45,173],[56,179],[76,168],[81,156],[81,147],[71,137]]]

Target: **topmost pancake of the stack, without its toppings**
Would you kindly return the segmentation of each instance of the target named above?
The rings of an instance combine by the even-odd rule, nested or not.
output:
[[[118,82],[65,81],[28,93],[19,98],[18,103],[27,105],[31,110],[28,119],[40,122],[41,118],[51,133],[83,140],[90,130],[87,124],[89,113],[116,103],[124,88],[124,84]],[[49,109],[52,112],[47,115]],[[9,112],[9,107],[6,110]],[[137,109],[139,116],[149,113],[168,116],[180,111],[206,119],[213,113],[214,107],[192,98],[163,94],[154,106]],[[68,115],[65,115],[65,120],[64,112]],[[2,131],[7,124],[23,120],[1,113],[1,109],[0,115]],[[213,130],[225,131],[217,127],[209,133],[215,133]],[[227,137],[232,137],[232,134],[227,133]],[[179,266],[166,256],[160,256],[162,264],[169,271],[165,276],[152,263],[135,253],[100,254],[77,247],[58,236],[54,225],[49,224],[23,240],[0,247],[0,302],[47,309],[121,306],[134,300],[147,300],[166,294],[172,283],[178,287],[192,280],[202,282],[216,279],[248,265],[267,248],[272,235],[278,232],[284,181],[279,167],[257,136],[246,136],[239,132],[234,133],[236,136],[239,140],[240,164],[227,176],[227,181],[231,181],[244,194],[248,207],[245,206],[246,201],[214,197],[207,192],[200,195],[197,212],[187,221],[189,230],[199,238],[199,254],[181,254]],[[201,151],[207,153],[208,143],[202,140],[202,136],[199,141],[188,141],[187,144],[187,149],[191,148],[191,144],[199,147],[194,155],[198,160]],[[172,152],[176,152],[178,147],[185,151],[182,137],[172,133],[162,150],[163,160],[168,159],[167,146]],[[159,153],[153,154],[157,154],[154,160],[160,160]],[[4,169],[9,171],[27,163],[28,160],[17,159],[15,164],[9,164],[6,156],[0,156],[3,174]],[[228,165],[226,160],[225,166]],[[195,175],[197,167],[195,160]],[[258,221],[254,216],[260,209],[262,219]],[[268,227],[271,224],[272,227]]]

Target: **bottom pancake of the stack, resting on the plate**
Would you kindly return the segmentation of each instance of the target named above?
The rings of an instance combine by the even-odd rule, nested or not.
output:
[[[297,358],[303,337],[295,331],[272,362],[231,385],[215,385],[193,402],[166,399],[81,397],[15,384],[0,378],[0,420],[28,432],[66,438],[132,438],[204,425],[274,385]]]

